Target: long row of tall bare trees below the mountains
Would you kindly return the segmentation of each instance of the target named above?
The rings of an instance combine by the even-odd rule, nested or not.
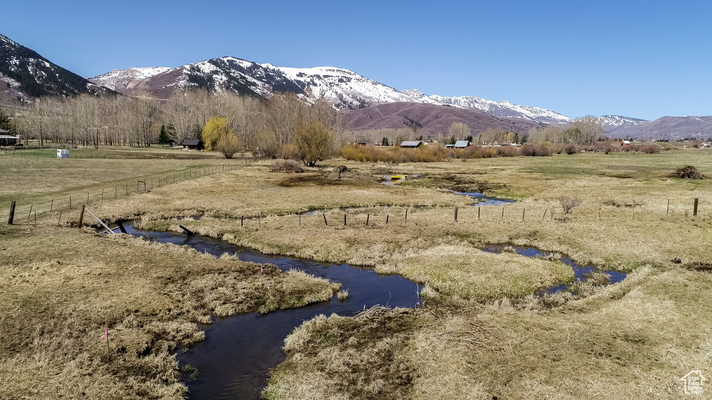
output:
[[[80,95],[41,98],[16,118],[17,133],[46,142],[98,148],[100,145],[147,147],[158,140],[161,125],[168,139],[200,139],[211,118],[224,118],[241,152],[284,157],[295,151],[300,124],[318,121],[340,137],[343,117],[328,102],[308,102],[293,93],[269,100],[206,90],[177,91],[162,107],[127,96]],[[332,144],[333,145],[333,144]]]

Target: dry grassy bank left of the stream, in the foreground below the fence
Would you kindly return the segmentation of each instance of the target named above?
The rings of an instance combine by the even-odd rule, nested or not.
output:
[[[339,288],[123,235],[1,226],[0,237],[3,399],[182,399],[171,352],[203,339],[196,322],[328,300]]]

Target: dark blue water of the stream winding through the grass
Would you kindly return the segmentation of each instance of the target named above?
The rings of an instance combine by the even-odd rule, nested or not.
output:
[[[180,366],[190,365],[198,371],[197,377],[187,379],[189,399],[192,400],[259,399],[261,390],[266,386],[269,370],[286,359],[282,351],[284,339],[295,327],[316,315],[336,313],[352,316],[373,305],[417,307],[421,301],[419,285],[399,275],[381,275],[369,268],[354,268],[347,264],[330,265],[298,258],[266,256],[216,238],[140,230],[134,228],[130,221],[125,222],[124,226],[127,233],[150,241],[190,246],[216,257],[229,253],[244,261],[271,263],[281,270],[303,270],[341,283],[342,289],[349,292],[349,298],[345,301],[334,296],[330,301],[305,307],[279,310],[266,315],[237,315],[217,320],[211,325],[201,325],[205,331],[205,340],[194,344],[187,351],[179,350],[177,354]],[[489,246],[483,250],[500,253],[503,249],[503,246]],[[513,250],[521,256],[545,256],[545,253],[535,248],[513,247]],[[561,258],[561,261],[573,268],[577,280],[584,280],[587,273],[596,270],[591,265],[576,265],[570,258]],[[610,275],[609,283],[625,278],[622,273],[602,272]],[[540,294],[565,289],[565,285],[557,285]],[[184,377],[188,378],[188,374]]]

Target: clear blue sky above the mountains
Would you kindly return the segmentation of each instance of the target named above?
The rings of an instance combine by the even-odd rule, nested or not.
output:
[[[235,56],[570,117],[712,115],[708,0],[8,2],[0,33],[85,77]]]

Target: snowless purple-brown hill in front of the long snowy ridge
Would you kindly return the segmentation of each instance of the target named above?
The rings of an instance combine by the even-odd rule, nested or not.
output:
[[[352,130],[399,129],[402,127],[425,128],[431,134],[448,135],[453,122],[464,122],[472,135],[488,127],[502,127],[507,132],[526,135],[537,122],[495,117],[480,110],[421,102],[389,102],[349,113],[348,125]]]

